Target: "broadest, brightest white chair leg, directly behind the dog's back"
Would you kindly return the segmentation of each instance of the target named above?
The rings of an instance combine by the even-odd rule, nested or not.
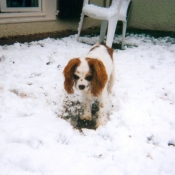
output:
[[[112,43],[113,43],[113,39],[114,39],[114,35],[115,35],[115,30],[116,30],[116,26],[117,26],[117,19],[112,18],[109,20],[108,22],[108,32],[107,32],[107,39],[106,39],[106,45],[109,47],[112,47]]]

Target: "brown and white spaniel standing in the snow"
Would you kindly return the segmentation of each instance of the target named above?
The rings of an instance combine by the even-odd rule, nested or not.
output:
[[[96,127],[106,123],[109,112],[108,93],[114,84],[113,49],[104,44],[96,44],[86,56],[71,59],[64,68],[64,88],[68,94],[73,87],[82,91],[84,114],[81,120],[92,120],[90,102],[98,98],[99,113]]]

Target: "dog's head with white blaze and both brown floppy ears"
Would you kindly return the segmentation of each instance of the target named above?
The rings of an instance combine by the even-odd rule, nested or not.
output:
[[[103,62],[88,57],[71,59],[63,73],[64,88],[69,94],[74,92],[75,86],[77,90],[90,91],[94,96],[98,96],[108,79]]]

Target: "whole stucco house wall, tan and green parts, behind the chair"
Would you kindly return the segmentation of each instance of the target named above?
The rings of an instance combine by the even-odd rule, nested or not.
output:
[[[77,30],[78,22],[79,19],[58,18],[55,21],[0,24],[0,38]],[[83,29],[99,25],[100,21],[86,18]],[[175,0],[132,0],[128,27],[175,32]]]

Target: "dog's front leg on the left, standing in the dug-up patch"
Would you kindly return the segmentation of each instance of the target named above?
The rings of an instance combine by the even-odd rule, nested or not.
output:
[[[90,106],[90,95],[88,93],[82,92],[83,95],[83,107],[84,107],[84,114],[80,116],[81,120],[92,120],[91,115],[91,106]]]

